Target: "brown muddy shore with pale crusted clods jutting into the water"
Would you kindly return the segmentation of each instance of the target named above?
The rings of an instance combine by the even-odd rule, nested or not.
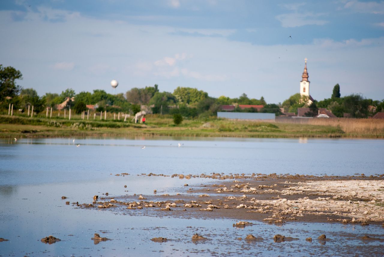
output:
[[[164,175],[151,173],[141,176]],[[73,203],[73,206],[133,216],[228,218],[273,224],[313,221],[369,225],[384,222],[382,175],[316,177],[174,174],[172,177],[185,180],[185,185],[175,189],[177,192],[172,195],[162,194],[154,188],[154,194],[151,195],[140,192],[113,196],[104,194],[93,199],[94,194],[90,192],[89,203]],[[221,181],[219,184],[207,181],[195,185],[191,179],[194,177]]]

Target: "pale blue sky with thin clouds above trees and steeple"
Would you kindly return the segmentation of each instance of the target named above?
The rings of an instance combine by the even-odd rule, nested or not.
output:
[[[2,0],[0,64],[46,92],[159,85],[283,102],[384,99],[384,1]]]

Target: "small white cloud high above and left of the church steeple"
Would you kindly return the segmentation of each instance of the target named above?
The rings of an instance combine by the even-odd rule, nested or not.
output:
[[[328,21],[318,19],[323,15],[323,13],[286,13],[277,15],[275,18],[281,22],[281,26],[284,28],[294,28],[305,25],[324,25]]]

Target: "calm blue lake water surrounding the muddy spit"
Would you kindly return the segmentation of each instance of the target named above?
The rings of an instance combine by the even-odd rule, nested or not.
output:
[[[178,144],[182,144],[180,147]],[[79,147],[76,147],[80,144]],[[142,147],[144,147],[142,149]],[[366,255],[382,253],[383,243],[364,243],[355,234],[383,237],[381,226],[291,222],[234,229],[230,219],[182,219],[127,216],[76,209],[65,201],[89,203],[94,194],[174,194],[185,180],[136,176],[201,173],[277,173],[366,176],[384,173],[384,140],[363,139],[233,139],[233,138],[48,138],[0,139],[0,256],[261,256]],[[129,176],[114,176],[129,173]],[[194,178],[189,185],[214,180]],[[123,185],[127,185],[124,188]],[[126,192],[127,191],[127,192]],[[61,200],[61,196],[68,197]],[[94,233],[113,239],[94,245]],[[194,244],[199,232],[210,241]],[[247,234],[275,234],[302,240],[255,244],[224,239]],[[326,233],[326,245],[305,241]],[[53,235],[62,241],[40,242]],[[154,243],[152,237],[167,237]],[[344,253],[344,254],[343,254]],[[348,254],[347,254],[348,255]]]

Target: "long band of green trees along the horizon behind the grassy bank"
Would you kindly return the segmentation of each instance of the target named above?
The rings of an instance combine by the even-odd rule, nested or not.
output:
[[[160,92],[158,85],[132,88],[124,94],[108,94],[104,90],[96,89],[93,92],[76,92],[68,88],[61,94],[46,93],[38,96],[33,88],[23,89],[15,83],[15,80],[22,79],[20,71],[13,67],[3,67],[0,64],[0,108],[8,110],[9,104],[14,109],[25,111],[28,105],[33,105],[36,112],[41,112],[47,107],[56,109],[58,104],[64,102],[67,97],[70,99],[63,108],[71,107],[76,113],[86,110],[86,105],[94,105],[96,111],[127,112],[135,114],[141,109],[141,105],[150,106],[154,114],[180,114],[183,117],[209,117],[216,115],[222,105],[235,105],[235,112],[269,112],[276,115],[281,114],[281,108],[285,112],[295,112],[298,107],[310,107],[309,116],[317,114],[318,108],[327,108],[338,117],[345,113],[350,117],[369,117],[376,112],[384,111],[384,100],[366,99],[359,94],[351,94],[341,97],[340,86],[334,86],[332,95],[321,101],[314,100],[308,106],[308,99],[294,94],[282,104],[267,104],[264,97],[260,99],[249,98],[243,93],[237,98],[220,96],[210,97],[207,92],[191,87],[177,87],[174,92]],[[74,97],[74,98],[73,98]],[[238,105],[263,105],[261,110],[256,108],[241,109]]]

